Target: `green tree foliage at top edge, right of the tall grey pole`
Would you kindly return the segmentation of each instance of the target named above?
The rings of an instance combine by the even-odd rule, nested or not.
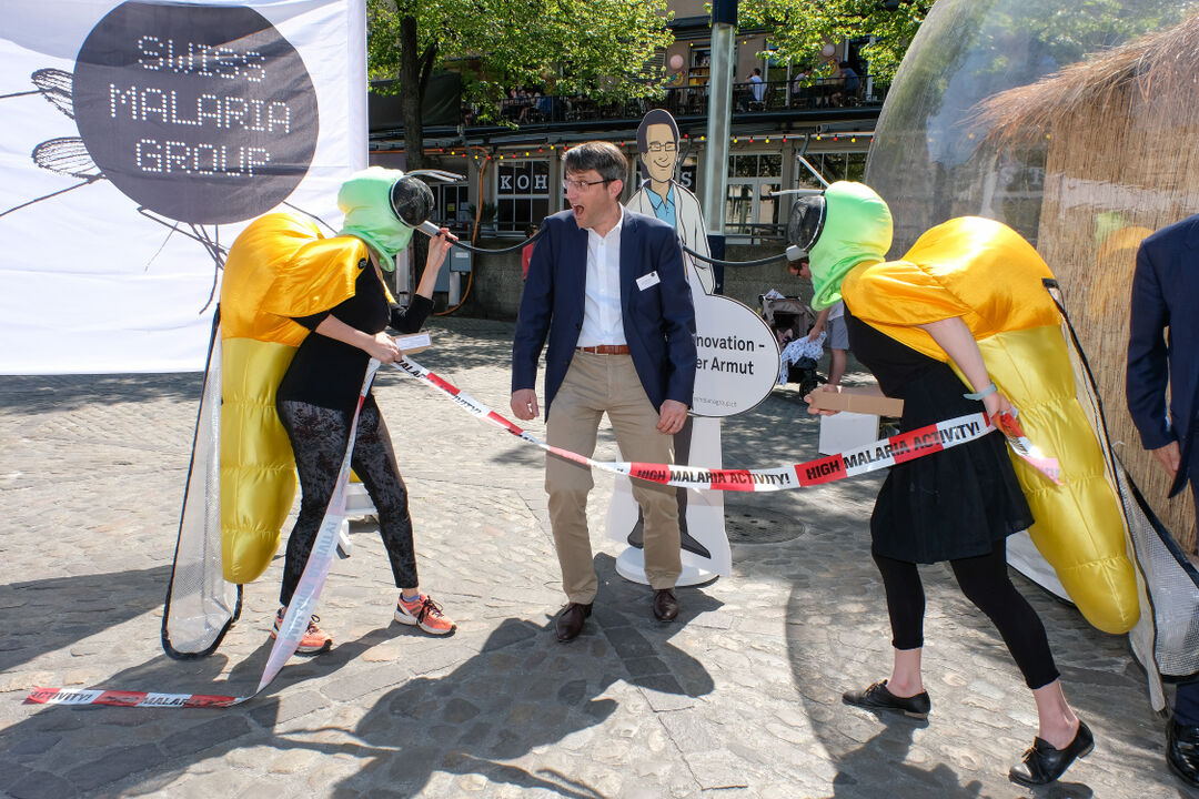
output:
[[[870,74],[890,78],[899,67],[934,0],[742,0],[741,28],[760,26],[771,56],[815,67],[820,49],[843,38],[874,36],[862,48]]]

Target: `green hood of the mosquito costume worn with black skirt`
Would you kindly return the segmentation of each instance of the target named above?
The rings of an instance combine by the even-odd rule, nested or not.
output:
[[[812,307],[824,310],[840,301],[840,282],[862,261],[886,260],[891,249],[891,210],[864,183],[837,181],[824,193],[825,222],[808,253]]]

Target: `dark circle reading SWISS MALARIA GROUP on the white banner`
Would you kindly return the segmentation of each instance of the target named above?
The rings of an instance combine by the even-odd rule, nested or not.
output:
[[[317,150],[303,60],[252,8],[121,4],[79,49],[73,102],[104,177],[179,222],[269,211]]]

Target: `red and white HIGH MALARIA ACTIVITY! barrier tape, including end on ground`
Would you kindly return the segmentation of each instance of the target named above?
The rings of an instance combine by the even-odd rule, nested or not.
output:
[[[415,361],[400,358],[394,365],[446,394],[458,407],[471,416],[502,428],[518,438],[523,438],[548,453],[605,472],[627,474],[652,483],[689,489],[709,489],[713,491],[784,491],[788,489],[824,485],[825,483],[875,472],[894,466],[896,464],[903,464],[941,452],[942,449],[957,447],[958,444],[981,438],[995,430],[987,420],[984,413],[970,413],[945,422],[938,422],[936,424],[930,424],[917,430],[900,432],[899,435],[882,438],[837,455],[819,458],[806,464],[788,464],[772,468],[695,468],[671,464],[597,461],[559,447],[550,447],[541,438],[513,424],[469,394],[464,394],[457,386],[429,371]],[[374,377],[374,368],[378,368],[378,362],[372,361],[372,369],[368,369],[367,379],[362,387],[362,395],[359,398],[360,410],[362,397],[366,395],[367,389],[370,387],[370,381]],[[241,704],[257,696],[275,678],[288,658],[295,653],[296,646],[303,637],[307,628],[308,617],[315,610],[317,598],[325,585],[325,577],[329,575],[329,568],[337,547],[337,529],[342,516],[345,515],[344,483],[349,480],[350,454],[353,452],[354,426],[356,424],[357,414],[355,413],[354,425],[350,429],[350,447],[347,449],[342,462],[338,488],[330,501],[329,510],[326,512],[325,520],[321,522],[320,533],[317,535],[315,544],[313,544],[312,555],[308,557],[303,576],[300,579],[300,585],[291,599],[291,605],[288,606],[288,612],[281,625],[281,634],[275,642],[275,647],[271,649],[266,668],[263,671],[263,679],[253,695],[236,697],[205,694],[153,694],[149,691],[37,688],[29,694],[26,701],[42,704],[109,704],[128,708],[227,708]],[[1001,416],[999,429],[1007,437],[1008,443],[1017,455],[1031,464],[1034,468],[1047,478],[1060,484],[1058,461],[1053,458],[1046,458],[1032,446],[1032,442],[1028,440],[1020,429],[1019,423],[1016,422],[1014,416]]]

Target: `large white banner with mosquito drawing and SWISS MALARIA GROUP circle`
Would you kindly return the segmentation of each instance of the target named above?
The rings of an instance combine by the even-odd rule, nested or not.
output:
[[[341,224],[367,162],[364,0],[6,0],[0,374],[204,368],[221,252]]]

